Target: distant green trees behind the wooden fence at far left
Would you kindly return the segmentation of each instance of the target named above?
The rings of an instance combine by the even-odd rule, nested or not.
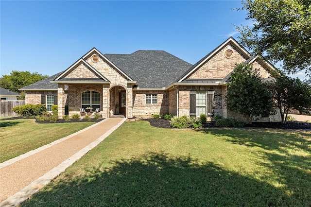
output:
[[[47,77],[47,75],[42,75],[38,72],[31,73],[29,71],[13,70],[10,75],[3,75],[0,78],[0,86],[19,93],[19,88],[28,86]]]

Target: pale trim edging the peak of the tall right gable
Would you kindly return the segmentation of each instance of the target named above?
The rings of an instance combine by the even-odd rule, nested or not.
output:
[[[247,52],[233,37],[229,37],[223,44],[218,46],[215,50],[208,53],[204,58],[199,60],[196,64],[194,64],[188,71],[186,71],[178,80],[177,83],[185,80],[192,72],[196,69],[199,69],[209,58],[211,58],[214,54],[219,52],[226,44],[232,43],[235,47],[237,47],[245,56],[250,57],[251,54]]]

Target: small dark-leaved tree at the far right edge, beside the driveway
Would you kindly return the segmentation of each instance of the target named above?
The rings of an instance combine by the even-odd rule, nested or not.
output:
[[[298,78],[285,75],[276,77],[276,84],[272,86],[273,98],[281,114],[282,123],[286,123],[290,110],[296,109],[300,113],[310,113],[311,86]]]

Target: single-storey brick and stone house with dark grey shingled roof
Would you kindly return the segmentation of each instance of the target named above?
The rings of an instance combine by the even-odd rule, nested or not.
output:
[[[226,88],[236,63],[259,69],[262,80],[273,80],[274,67],[252,56],[232,37],[191,65],[165,51],[102,54],[96,48],[68,69],[21,88],[26,104],[58,105],[58,116],[99,108],[102,117],[127,118],[150,114],[221,115],[244,119],[226,108]],[[279,121],[279,116],[260,119]]]

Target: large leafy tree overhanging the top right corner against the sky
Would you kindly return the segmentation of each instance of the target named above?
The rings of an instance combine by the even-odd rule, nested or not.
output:
[[[240,42],[288,73],[311,76],[311,0],[243,0],[254,27],[237,27]]]

